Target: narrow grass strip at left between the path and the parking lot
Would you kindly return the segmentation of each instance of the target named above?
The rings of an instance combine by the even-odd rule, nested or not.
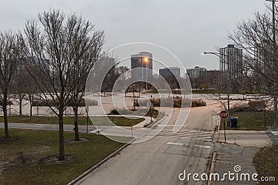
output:
[[[145,118],[131,119],[125,117],[112,117],[109,116],[110,120],[118,126],[131,126],[144,121]],[[94,118],[94,120],[99,121],[101,118]],[[94,122],[95,122],[94,121]],[[0,116],[0,122],[3,123],[3,116]],[[58,124],[57,116],[8,116],[8,122],[10,123],[38,123],[38,124]],[[87,117],[79,116],[79,125],[86,125]],[[65,125],[74,125],[74,117],[65,116],[64,117]],[[91,125],[92,121],[88,119],[88,125]]]

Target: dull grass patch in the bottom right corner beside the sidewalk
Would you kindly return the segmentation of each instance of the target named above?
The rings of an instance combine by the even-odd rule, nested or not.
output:
[[[278,177],[277,146],[261,148],[253,158],[253,164],[259,177],[275,177],[275,182],[260,182],[260,184],[277,184]]]

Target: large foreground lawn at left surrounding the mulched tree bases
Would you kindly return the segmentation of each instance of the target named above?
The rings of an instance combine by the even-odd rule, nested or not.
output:
[[[3,129],[0,133],[3,136]],[[58,132],[10,129],[10,135],[20,139],[0,143],[0,162],[12,160],[2,171],[0,184],[67,184],[123,146],[102,135],[81,133],[89,140],[65,143],[65,155],[76,157],[74,162],[40,164],[42,157],[58,155]],[[74,133],[65,132],[65,139],[73,138]]]

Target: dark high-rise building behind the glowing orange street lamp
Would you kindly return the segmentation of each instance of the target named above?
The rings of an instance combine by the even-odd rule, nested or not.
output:
[[[142,69],[136,69],[142,68]],[[135,71],[132,69],[136,69]],[[148,69],[148,70],[147,70]],[[151,70],[149,70],[151,69]],[[147,81],[152,78],[152,53],[142,51],[131,55],[131,78]]]

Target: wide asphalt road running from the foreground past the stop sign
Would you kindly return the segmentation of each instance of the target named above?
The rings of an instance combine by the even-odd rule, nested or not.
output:
[[[217,109],[217,105],[191,109],[186,124],[173,133],[174,116],[179,114],[179,109],[174,109],[162,132],[157,134],[158,125],[145,135],[156,135],[153,139],[131,144],[76,184],[204,184],[181,181],[179,175],[184,170],[206,173],[218,124],[213,110]]]

